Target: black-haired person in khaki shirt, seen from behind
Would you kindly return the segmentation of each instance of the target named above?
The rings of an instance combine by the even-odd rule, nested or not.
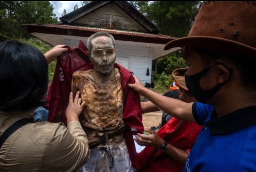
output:
[[[79,92],[74,98],[70,93],[67,127],[33,118],[45,104],[48,62],[64,51],[58,45],[44,56],[16,40],[0,42],[0,171],[75,171],[87,162]]]

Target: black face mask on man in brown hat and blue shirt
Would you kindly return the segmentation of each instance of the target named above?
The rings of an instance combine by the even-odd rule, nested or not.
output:
[[[221,64],[226,69],[228,69],[230,73],[229,78],[225,82],[221,84],[217,84],[216,86],[214,86],[209,90],[202,90],[199,84],[201,78],[204,76],[204,74],[206,74],[209,71],[209,69],[211,69],[211,67],[213,67],[216,64]],[[203,71],[197,74],[190,75],[190,76],[187,76],[187,74],[185,74],[185,82],[186,82],[187,88],[189,89],[189,92],[195,97],[195,99],[201,103],[206,103],[225,83],[227,83],[227,81],[231,78],[232,73],[233,73],[233,70],[228,68],[225,64],[220,62],[215,62],[210,67],[204,69]]]

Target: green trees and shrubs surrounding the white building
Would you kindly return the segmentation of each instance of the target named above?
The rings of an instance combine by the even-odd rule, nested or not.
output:
[[[81,5],[86,5],[90,2],[81,1]],[[172,37],[183,37],[188,34],[199,10],[199,5],[202,3],[201,1],[128,2],[156,24],[161,29],[160,34],[170,35]],[[77,7],[77,5],[74,6],[74,10]],[[64,14],[66,14],[66,10],[62,15]],[[57,17],[53,13],[52,4],[49,1],[1,1],[0,20],[0,41],[20,39],[21,42],[35,46],[43,53],[51,48],[51,46],[38,39],[28,39],[30,36],[27,33],[16,29],[21,24],[57,23]],[[153,61],[152,70],[156,71],[156,73],[152,72],[152,78],[154,78],[155,83],[154,89],[168,90],[172,81],[171,73],[179,67],[185,67],[185,61],[178,53]],[[55,62],[52,62],[49,65],[50,80],[53,76],[54,69]]]

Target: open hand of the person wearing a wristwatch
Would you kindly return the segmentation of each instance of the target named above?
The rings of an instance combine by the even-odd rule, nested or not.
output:
[[[150,147],[160,147],[164,144],[164,140],[157,135],[154,130],[144,129],[145,132],[150,133],[150,135],[144,135],[137,133],[135,135],[135,142],[141,146],[150,146]]]

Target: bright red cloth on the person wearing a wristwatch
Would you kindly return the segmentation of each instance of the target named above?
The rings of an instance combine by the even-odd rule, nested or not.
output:
[[[201,128],[202,126],[195,123],[173,117],[158,130],[157,134],[174,147],[190,152]],[[138,159],[140,164],[139,172],[183,171],[183,165],[180,165],[156,147],[145,147],[138,153]]]

